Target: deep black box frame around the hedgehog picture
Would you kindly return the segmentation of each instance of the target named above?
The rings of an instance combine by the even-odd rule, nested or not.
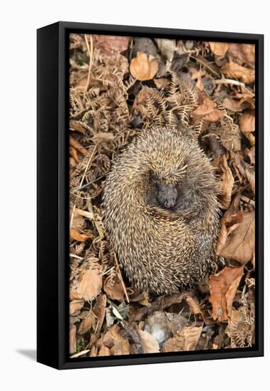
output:
[[[68,35],[71,32],[254,43],[256,46],[256,346],[68,358]],[[58,369],[264,355],[264,36],[58,22],[37,31],[37,360]]]

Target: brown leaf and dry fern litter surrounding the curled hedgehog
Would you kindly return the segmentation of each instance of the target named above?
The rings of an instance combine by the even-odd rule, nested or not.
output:
[[[71,357],[248,348],[255,318],[254,45],[71,34]],[[100,208],[113,159],[152,125],[212,159],[217,270],[178,294],[130,286]]]

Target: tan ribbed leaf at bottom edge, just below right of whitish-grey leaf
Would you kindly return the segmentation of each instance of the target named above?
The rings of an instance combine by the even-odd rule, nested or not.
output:
[[[168,339],[162,352],[195,350],[201,333],[202,326],[183,326],[177,336]]]

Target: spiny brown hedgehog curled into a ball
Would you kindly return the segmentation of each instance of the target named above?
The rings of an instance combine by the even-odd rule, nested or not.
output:
[[[152,127],[113,161],[103,189],[110,245],[140,291],[172,294],[209,277],[219,232],[218,182],[198,141]]]

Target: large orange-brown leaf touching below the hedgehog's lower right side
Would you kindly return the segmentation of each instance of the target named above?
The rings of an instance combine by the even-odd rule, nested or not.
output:
[[[221,272],[209,277],[209,301],[212,304],[212,318],[227,321],[232,313],[232,303],[242,278],[244,267],[224,267]]]

